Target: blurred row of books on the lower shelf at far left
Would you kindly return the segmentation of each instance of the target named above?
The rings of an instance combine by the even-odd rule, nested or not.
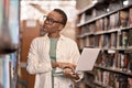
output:
[[[16,76],[16,54],[0,55],[0,88],[15,88]]]

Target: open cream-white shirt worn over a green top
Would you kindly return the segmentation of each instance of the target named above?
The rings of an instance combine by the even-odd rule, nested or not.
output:
[[[36,37],[31,43],[28,56],[26,70],[35,74],[34,88],[52,88],[52,66],[50,58],[50,37],[46,35]],[[56,47],[56,62],[77,64],[80,54],[77,44],[63,35],[58,38]],[[56,72],[62,72],[56,68]],[[73,81],[65,77],[55,77],[54,88],[69,88]]]

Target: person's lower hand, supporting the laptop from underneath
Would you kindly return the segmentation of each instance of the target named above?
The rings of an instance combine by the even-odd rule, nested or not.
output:
[[[74,79],[79,79],[79,76],[77,73],[73,73],[70,68],[65,68],[64,69],[64,75],[68,78],[74,78]]]

